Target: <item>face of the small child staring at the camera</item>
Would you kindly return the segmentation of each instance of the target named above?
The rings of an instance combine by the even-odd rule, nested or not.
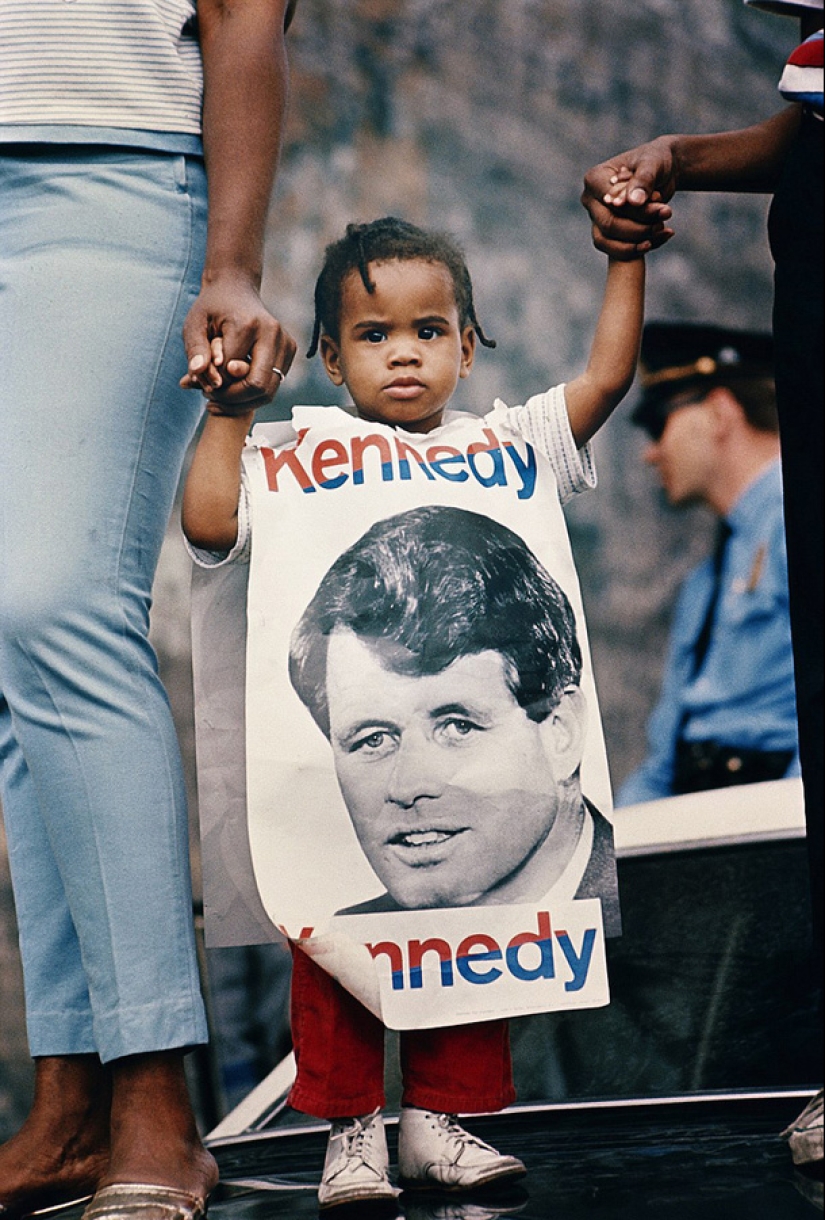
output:
[[[431,432],[472,368],[474,329],[461,329],[443,264],[371,262],[369,270],[375,293],[356,271],[343,283],[339,342],[321,339],[327,373],[347,386],[362,418]]]

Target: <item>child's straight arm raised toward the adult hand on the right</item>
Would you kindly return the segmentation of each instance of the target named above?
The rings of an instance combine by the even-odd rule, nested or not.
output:
[[[630,389],[643,325],[644,259],[610,259],[587,368],[565,387],[570,427],[580,448],[596,436]]]

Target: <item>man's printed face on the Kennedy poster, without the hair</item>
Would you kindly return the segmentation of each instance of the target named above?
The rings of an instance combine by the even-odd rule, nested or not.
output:
[[[581,756],[580,693],[537,723],[500,653],[426,675],[398,660],[399,645],[347,628],[328,640],[336,772],[367,860],[403,908],[521,900],[559,814],[558,772]]]

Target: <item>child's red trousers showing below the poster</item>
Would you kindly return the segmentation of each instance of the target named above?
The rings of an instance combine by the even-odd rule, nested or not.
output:
[[[300,949],[293,949],[292,1037],[297,1110],[332,1120],[383,1109],[383,1025]],[[506,1021],[409,1031],[400,1052],[404,1105],[486,1114],[515,1100]]]

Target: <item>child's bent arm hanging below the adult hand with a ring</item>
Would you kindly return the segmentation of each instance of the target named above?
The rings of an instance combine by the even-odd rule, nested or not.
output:
[[[183,488],[183,532],[200,550],[232,550],[238,539],[240,455],[254,411],[210,412]]]

